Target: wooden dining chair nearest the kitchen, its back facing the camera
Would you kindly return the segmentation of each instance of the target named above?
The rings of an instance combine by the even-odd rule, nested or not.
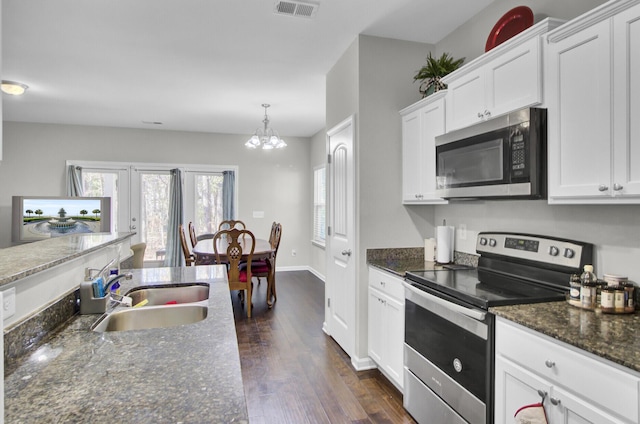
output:
[[[231,228],[218,231],[213,238],[216,262],[227,264],[229,290],[244,290],[243,305],[247,305],[247,317],[251,318],[251,262],[256,238],[249,230]],[[223,250],[224,257],[220,250]],[[246,264],[246,266],[241,266]]]

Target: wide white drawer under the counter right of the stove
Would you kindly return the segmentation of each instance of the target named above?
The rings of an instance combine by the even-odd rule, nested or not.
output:
[[[510,359],[603,409],[638,422],[640,379],[541,333],[496,320],[496,355]]]

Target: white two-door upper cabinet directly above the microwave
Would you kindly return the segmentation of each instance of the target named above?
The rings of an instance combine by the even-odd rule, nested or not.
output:
[[[547,18],[444,77],[447,131],[542,103],[540,36],[562,22]]]

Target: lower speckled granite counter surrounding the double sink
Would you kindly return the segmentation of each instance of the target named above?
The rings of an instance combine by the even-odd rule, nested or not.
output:
[[[7,423],[246,423],[224,268],[149,268],[138,285],[210,284],[207,317],[171,328],[97,333],[79,315],[5,376]]]

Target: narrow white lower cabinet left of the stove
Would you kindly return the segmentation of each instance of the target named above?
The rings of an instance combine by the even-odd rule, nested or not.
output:
[[[369,267],[369,357],[403,390],[404,288],[402,279]]]

